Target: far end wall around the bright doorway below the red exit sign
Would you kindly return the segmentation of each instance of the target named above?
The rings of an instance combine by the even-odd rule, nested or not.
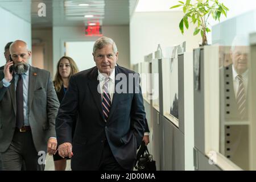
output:
[[[56,71],[57,61],[64,55],[65,42],[84,42],[98,39],[97,36],[85,36],[84,30],[85,27],[53,27],[53,72]],[[118,64],[128,68],[130,65],[129,26],[105,26],[102,27],[102,34],[115,41],[119,51]]]

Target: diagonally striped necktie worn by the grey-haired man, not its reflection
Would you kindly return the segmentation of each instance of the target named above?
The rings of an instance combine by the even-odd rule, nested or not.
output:
[[[104,88],[103,88],[103,98],[102,98],[102,107],[103,107],[103,114],[105,118],[105,122],[108,121],[109,111],[111,106],[111,99],[108,89],[108,82],[110,78],[105,79]]]

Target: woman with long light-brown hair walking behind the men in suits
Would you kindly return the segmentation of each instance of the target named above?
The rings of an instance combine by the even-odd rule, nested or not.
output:
[[[53,84],[60,103],[63,100],[65,93],[67,92],[69,78],[77,72],[79,72],[79,69],[71,57],[63,56],[60,58],[57,63],[57,70],[53,80]],[[56,152],[56,154],[53,155],[55,171],[65,171],[67,166],[67,159],[69,158],[61,158],[59,153]]]

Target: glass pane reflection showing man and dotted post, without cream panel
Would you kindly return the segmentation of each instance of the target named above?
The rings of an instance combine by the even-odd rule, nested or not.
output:
[[[220,47],[220,152],[249,169],[248,46]]]

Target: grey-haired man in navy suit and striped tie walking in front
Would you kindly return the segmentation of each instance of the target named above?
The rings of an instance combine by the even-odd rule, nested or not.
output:
[[[94,43],[93,58],[96,67],[72,76],[61,102],[56,118],[59,155],[73,154],[72,170],[131,170],[145,125],[139,75],[115,67],[118,51],[110,38]]]

